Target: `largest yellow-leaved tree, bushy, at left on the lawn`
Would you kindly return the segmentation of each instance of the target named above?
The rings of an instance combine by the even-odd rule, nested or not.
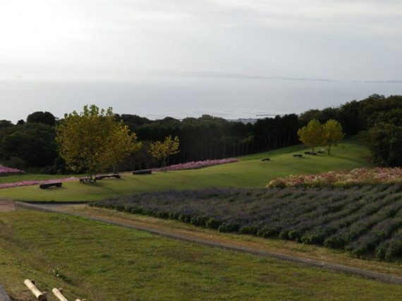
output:
[[[80,114],[65,114],[56,132],[60,156],[71,170],[87,171],[89,180],[138,147],[135,134],[115,121],[112,109],[99,110],[95,104]]]

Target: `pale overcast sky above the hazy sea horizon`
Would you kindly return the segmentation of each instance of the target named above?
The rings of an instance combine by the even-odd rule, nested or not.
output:
[[[400,0],[13,0],[0,28],[0,85],[402,80]]]

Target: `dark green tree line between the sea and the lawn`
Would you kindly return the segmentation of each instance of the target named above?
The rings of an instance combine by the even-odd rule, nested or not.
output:
[[[109,112],[111,113],[111,112]],[[65,117],[66,118],[66,117]],[[346,102],[339,107],[313,109],[255,123],[227,121],[203,115],[178,120],[166,117],[152,121],[130,114],[113,114],[118,123],[135,133],[141,147],[131,152],[118,166],[123,170],[150,168],[161,163],[149,152],[150,145],[166,137],[180,139],[180,151],[168,156],[166,164],[254,154],[300,143],[298,130],[310,121],[339,122],[343,132],[358,135],[372,151],[380,166],[402,166],[402,96],[373,94],[366,99]],[[49,112],[31,113],[26,121],[0,121],[0,164],[32,172],[66,173],[66,160],[56,143],[56,128],[63,119]],[[109,154],[110,155],[110,154]]]

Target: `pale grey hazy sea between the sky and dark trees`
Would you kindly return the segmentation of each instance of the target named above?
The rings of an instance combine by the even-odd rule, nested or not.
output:
[[[204,114],[257,119],[336,107],[372,94],[402,94],[402,81],[359,82],[241,78],[140,78],[135,80],[0,80],[0,120],[16,123],[35,111],[57,118],[96,104],[114,113],[151,120]]]

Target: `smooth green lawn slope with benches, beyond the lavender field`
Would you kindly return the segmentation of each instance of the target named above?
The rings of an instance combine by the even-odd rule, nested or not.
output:
[[[192,171],[170,171],[152,175],[123,174],[121,180],[106,179],[96,185],[78,181],[63,183],[61,189],[39,190],[37,185],[0,190],[0,198],[31,201],[87,201],[155,190],[181,190],[208,187],[263,187],[274,177],[290,174],[320,173],[339,169],[371,166],[363,159],[365,147],[351,140],[320,154],[293,158],[306,149],[291,147],[276,152],[246,156],[238,163],[212,166]],[[261,161],[269,157],[271,161]]]

